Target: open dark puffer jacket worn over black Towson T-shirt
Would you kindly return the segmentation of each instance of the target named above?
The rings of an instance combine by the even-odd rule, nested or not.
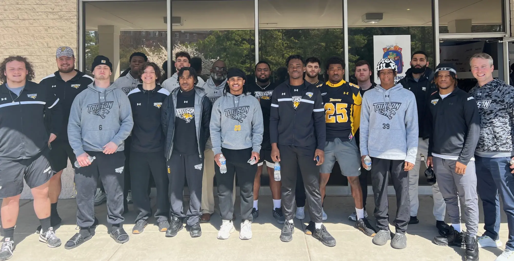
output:
[[[177,109],[177,93],[179,88],[174,89],[170,96],[164,99],[161,110],[161,123],[162,131],[166,135],[166,143],[164,156],[169,160],[173,152],[173,139],[175,135],[175,111]],[[194,87],[194,110],[195,110],[195,127],[196,127],[196,141],[198,143],[198,156],[204,157],[205,144],[210,136],[209,125],[211,123],[211,110],[212,103],[207,97],[204,88]],[[198,113],[198,114],[197,114]],[[198,117],[197,117],[198,116]],[[177,136],[177,138],[180,138]]]

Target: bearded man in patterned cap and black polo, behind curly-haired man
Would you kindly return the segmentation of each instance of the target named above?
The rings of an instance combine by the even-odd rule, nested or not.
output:
[[[79,70],[75,69],[75,55],[73,49],[67,46],[57,48],[56,53],[58,71],[44,77],[40,84],[49,87],[54,94],[61,101],[62,108],[62,127],[60,135],[53,140],[50,144],[50,157],[49,161],[52,165],[52,170],[56,171],[50,178],[50,185],[48,188],[48,196],[51,203],[51,225],[57,226],[61,223],[61,217],[57,212],[57,200],[61,194],[61,174],[68,166],[68,159],[73,165],[77,158],[73,149],[69,146],[68,142],[68,118],[71,104],[75,96],[81,91],[85,90],[87,86],[93,82],[93,78]],[[53,115],[47,114],[46,117],[51,118]],[[75,166],[72,166],[75,168]],[[36,229],[39,233],[41,226]]]

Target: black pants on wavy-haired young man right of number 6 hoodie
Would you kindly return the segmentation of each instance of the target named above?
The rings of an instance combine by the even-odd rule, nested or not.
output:
[[[168,220],[170,213],[170,201],[168,199],[169,181],[164,151],[131,151],[130,158],[132,200],[134,202],[134,209],[137,211],[135,222],[141,218],[148,220],[152,214],[150,196],[148,195],[150,175],[154,177],[155,188],[157,189],[155,219],[157,219],[157,222]]]

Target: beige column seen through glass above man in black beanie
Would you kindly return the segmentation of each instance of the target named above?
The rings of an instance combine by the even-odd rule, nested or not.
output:
[[[111,81],[120,75],[120,28],[112,25],[98,26],[98,54],[106,56],[113,64]]]

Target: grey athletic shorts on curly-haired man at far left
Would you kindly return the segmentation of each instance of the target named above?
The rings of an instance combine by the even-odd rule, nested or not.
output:
[[[0,198],[20,195],[23,179],[31,189],[47,183],[53,175],[47,157],[45,150],[33,158],[0,159]]]

